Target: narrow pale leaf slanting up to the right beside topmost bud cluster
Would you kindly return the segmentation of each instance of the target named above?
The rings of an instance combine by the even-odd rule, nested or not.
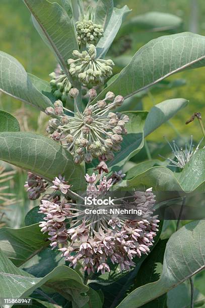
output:
[[[104,36],[99,40],[97,48],[97,56],[99,58],[104,58],[108,49],[110,48],[117,32],[122,24],[123,18],[129,13],[127,6],[124,6],[121,9],[114,8],[112,11],[111,18],[107,24],[107,27],[104,31]]]

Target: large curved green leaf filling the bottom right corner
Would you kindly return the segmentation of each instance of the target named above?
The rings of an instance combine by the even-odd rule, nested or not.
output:
[[[117,308],[141,307],[205,269],[205,221],[190,222],[169,239],[161,278],[133,290]]]

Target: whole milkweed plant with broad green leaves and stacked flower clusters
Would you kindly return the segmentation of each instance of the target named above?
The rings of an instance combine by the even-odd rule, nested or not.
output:
[[[56,67],[43,81],[0,54],[2,92],[44,112],[47,122],[43,134],[23,132],[13,115],[0,111],[0,159],[28,172],[25,189],[38,204],[22,228],[0,229],[0,297],[75,308],[154,307],[156,301],[169,307],[183,283],[193,307],[191,277],[205,267],[205,223],[203,217],[180,223],[189,195],[203,192],[203,140],[200,131],[190,144],[168,140],[171,156],[152,160],[145,138],[186,107],[188,97],[149,111],[131,106],[136,94],[168,76],[204,66],[205,38],[176,33],[181,20],[164,14],[161,21],[156,12],[123,28],[130,10],[114,8],[112,0],[24,4]],[[166,22],[175,34],[151,40],[114,73],[108,51],[120,31],[166,29]],[[144,148],[149,161],[144,155],[139,164]],[[169,220],[159,208],[170,200],[180,211],[172,235],[163,237]]]

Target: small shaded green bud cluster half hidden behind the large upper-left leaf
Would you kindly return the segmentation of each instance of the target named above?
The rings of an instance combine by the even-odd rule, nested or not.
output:
[[[53,71],[49,76],[51,78],[50,86],[53,95],[62,102],[66,102],[67,95],[73,87],[67,75],[60,69],[59,73]]]

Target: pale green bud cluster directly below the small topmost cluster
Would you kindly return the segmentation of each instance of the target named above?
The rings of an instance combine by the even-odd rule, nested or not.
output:
[[[85,85],[103,85],[105,80],[112,75],[113,61],[98,59],[94,45],[89,45],[88,51],[82,53],[74,50],[73,56],[76,59],[67,60],[70,65],[69,72]]]

